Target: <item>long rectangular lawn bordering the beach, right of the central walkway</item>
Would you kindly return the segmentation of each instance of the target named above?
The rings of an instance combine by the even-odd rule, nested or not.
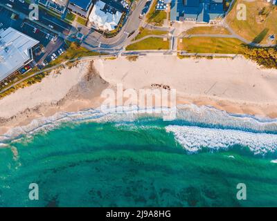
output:
[[[192,53],[240,54],[242,41],[234,38],[192,37],[178,42],[178,50]]]

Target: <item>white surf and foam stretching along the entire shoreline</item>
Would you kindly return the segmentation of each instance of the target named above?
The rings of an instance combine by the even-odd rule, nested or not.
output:
[[[0,146],[22,136],[32,136],[41,131],[50,131],[64,122],[135,122],[145,117],[143,122],[148,126],[148,119],[162,119],[169,108],[160,110],[140,109],[132,106],[122,113],[116,108],[105,110],[87,109],[78,112],[56,113],[51,117],[34,119],[27,126],[12,128],[0,136]],[[253,115],[238,115],[220,111],[209,106],[181,105],[176,111],[176,119],[164,122],[166,131],[175,135],[187,151],[195,152],[201,148],[229,148],[233,145],[248,146],[253,153],[269,153],[277,148],[277,119]],[[147,114],[146,114],[146,113]],[[151,113],[152,112],[152,113]]]

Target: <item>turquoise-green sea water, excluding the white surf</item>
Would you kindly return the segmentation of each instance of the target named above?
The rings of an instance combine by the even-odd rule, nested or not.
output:
[[[172,124],[186,123],[67,122],[9,141],[0,206],[277,206],[275,152],[235,144],[192,153],[166,130]],[[39,200],[28,198],[32,182]],[[238,183],[247,200],[237,200]]]

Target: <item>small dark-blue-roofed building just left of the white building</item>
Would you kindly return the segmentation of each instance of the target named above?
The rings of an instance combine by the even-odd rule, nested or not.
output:
[[[92,6],[92,0],[69,0],[69,6],[67,8],[71,10],[71,12],[87,18],[89,17]]]

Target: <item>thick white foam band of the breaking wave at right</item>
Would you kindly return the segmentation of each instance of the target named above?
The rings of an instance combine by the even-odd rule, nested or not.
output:
[[[189,152],[202,148],[226,149],[234,145],[246,146],[255,154],[277,150],[277,135],[274,134],[175,125],[166,126],[166,131],[174,133],[175,140]]]

